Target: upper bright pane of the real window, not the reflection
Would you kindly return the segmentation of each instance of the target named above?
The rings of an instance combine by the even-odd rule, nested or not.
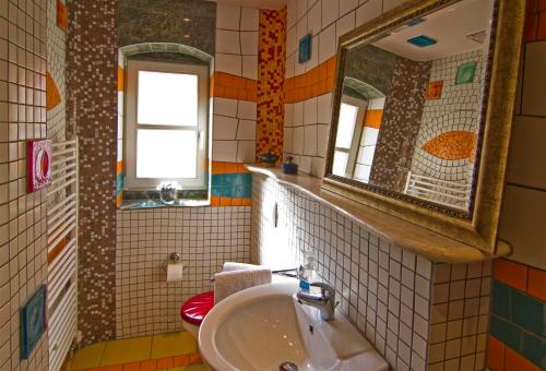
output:
[[[139,71],[138,123],[198,125],[198,76]]]

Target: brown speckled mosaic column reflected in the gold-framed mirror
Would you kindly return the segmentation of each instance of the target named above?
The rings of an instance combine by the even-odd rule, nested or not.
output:
[[[371,184],[395,192],[404,190],[420,128],[429,74],[429,62],[394,59],[391,92],[384,103],[370,172]]]

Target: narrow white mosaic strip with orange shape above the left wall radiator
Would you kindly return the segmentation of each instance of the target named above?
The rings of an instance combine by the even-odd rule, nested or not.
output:
[[[62,3],[64,3],[62,1]],[[57,1],[47,5],[47,136],[66,139],[67,131],[67,32],[57,25]],[[73,132],[73,130],[71,131]]]

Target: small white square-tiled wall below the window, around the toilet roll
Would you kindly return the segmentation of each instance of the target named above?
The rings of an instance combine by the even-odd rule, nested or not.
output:
[[[212,289],[225,261],[250,261],[251,207],[176,207],[117,212],[116,335],[181,330],[180,306]],[[162,265],[179,252],[183,280],[167,283]]]

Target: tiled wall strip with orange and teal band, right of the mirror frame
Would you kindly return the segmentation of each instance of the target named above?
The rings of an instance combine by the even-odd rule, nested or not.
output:
[[[513,252],[495,264],[488,364],[546,369],[546,3],[527,0],[523,67],[500,237]]]

